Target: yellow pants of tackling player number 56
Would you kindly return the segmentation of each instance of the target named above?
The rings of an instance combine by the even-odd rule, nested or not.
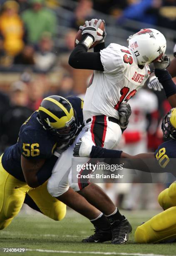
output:
[[[0,157],[0,229],[6,228],[20,212],[26,193],[39,207],[41,212],[53,220],[62,220],[66,214],[66,205],[47,191],[47,182],[32,189],[25,182],[5,171]]]

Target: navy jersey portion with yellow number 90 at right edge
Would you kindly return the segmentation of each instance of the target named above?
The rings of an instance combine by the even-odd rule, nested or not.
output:
[[[176,140],[171,139],[159,145],[154,155],[162,168],[170,167],[169,159],[176,158]]]

